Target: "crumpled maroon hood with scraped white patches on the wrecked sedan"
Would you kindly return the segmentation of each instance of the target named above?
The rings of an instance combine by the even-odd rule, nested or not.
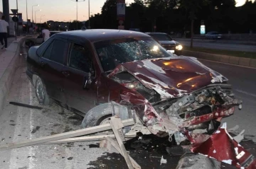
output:
[[[122,67],[122,68],[121,68]],[[110,76],[127,70],[161,98],[177,98],[212,83],[228,81],[221,74],[190,57],[146,59],[121,64]]]

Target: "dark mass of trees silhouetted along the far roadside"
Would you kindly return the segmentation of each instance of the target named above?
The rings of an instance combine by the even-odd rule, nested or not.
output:
[[[124,28],[199,34],[203,23],[206,32],[255,33],[255,16],[256,3],[248,0],[240,7],[235,7],[235,0],[134,0],[126,6]],[[90,27],[94,29],[117,29],[118,25],[117,0],[105,1],[101,13],[90,18]]]

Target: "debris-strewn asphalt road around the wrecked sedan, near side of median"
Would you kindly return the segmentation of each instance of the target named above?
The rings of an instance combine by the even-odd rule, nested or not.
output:
[[[223,122],[228,122],[228,128],[238,124],[240,126],[238,132],[245,129],[245,136],[256,141],[256,69],[208,61],[201,62],[227,76],[233,84],[235,95],[243,100],[242,110],[236,110],[235,115],[225,118]],[[58,105],[53,104],[53,106],[44,107],[43,110],[35,110],[9,104],[10,101],[16,101],[38,105],[34,88],[28,81],[25,71],[24,61],[16,71],[11,93],[0,116],[0,144],[80,129],[82,117]],[[152,140],[153,142],[146,143],[146,146],[134,141],[128,145],[129,149],[127,149],[142,168],[175,168],[179,156],[169,156],[166,153],[165,148],[169,145],[165,141]],[[124,158],[115,152],[113,149],[107,151],[99,148],[97,141],[29,146],[0,151],[0,168],[127,168]],[[159,157],[162,155],[167,159],[167,164],[160,165]]]

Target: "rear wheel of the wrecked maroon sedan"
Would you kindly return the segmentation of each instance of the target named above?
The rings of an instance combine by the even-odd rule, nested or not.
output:
[[[36,98],[38,98],[38,103],[41,105],[51,105],[53,100],[49,98],[46,92],[46,86],[41,80],[41,78],[36,78]]]

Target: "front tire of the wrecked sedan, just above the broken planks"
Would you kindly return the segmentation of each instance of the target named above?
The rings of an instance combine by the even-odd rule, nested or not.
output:
[[[89,110],[82,120],[82,128],[94,127],[112,117],[111,103],[103,103]]]

